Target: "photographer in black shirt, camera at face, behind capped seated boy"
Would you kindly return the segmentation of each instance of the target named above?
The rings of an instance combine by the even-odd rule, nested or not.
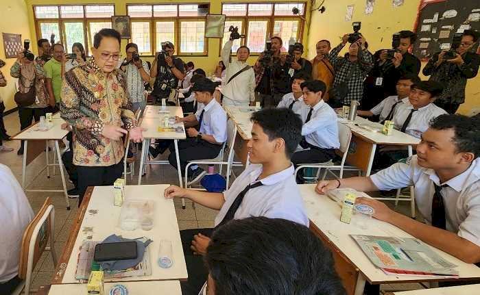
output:
[[[176,104],[178,80],[185,78],[183,61],[174,57],[175,47],[169,41],[162,42],[162,51],[155,53],[155,60],[150,69],[150,77],[156,78],[152,97],[156,101],[168,99],[169,104]]]

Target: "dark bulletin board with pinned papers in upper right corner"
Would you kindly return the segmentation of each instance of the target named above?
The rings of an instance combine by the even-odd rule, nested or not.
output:
[[[435,52],[450,49],[453,34],[465,29],[480,32],[479,0],[423,0],[418,7],[413,55],[428,60]]]

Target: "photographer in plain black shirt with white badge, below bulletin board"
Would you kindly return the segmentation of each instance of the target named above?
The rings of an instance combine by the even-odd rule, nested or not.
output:
[[[370,110],[385,97],[396,95],[396,83],[400,77],[417,76],[420,73],[420,60],[409,53],[416,40],[417,35],[413,31],[399,31],[392,36],[392,49],[376,52],[374,68],[364,83],[364,110]]]

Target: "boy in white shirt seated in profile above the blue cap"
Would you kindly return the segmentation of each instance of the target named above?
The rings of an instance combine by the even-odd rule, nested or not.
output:
[[[227,140],[227,115],[221,105],[213,98],[215,84],[206,78],[200,78],[192,87],[195,97],[199,103],[198,110],[184,118],[177,117],[177,122],[198,125],[195,128],[187,129],[187,140],[178,142],[178,155],[180,157],[180,169],[182,174],[189,161],[194,159],[212,159],[220,152],[221,144]],[[170,149],[169,162],[171,166],[177,167],[175,147],[172,140],[160,140],[158,146],[150,149],[152,157],[164,153]],[[206,174],[205,170],[197,165],[190,166],[188,180],[195,183]]]

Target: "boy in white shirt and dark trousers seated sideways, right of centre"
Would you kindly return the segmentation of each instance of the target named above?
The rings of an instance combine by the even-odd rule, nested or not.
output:
[[[340,147],[338,138],[337,114],[322,99],[326,85],[320,80],[307,81],[301,85],[303,102],[301,149],[291,157],[291,162],[300,164],[323,163],[335,157],[335,149]],[[303,183],[302,170],[297,174],[297,182]]]

